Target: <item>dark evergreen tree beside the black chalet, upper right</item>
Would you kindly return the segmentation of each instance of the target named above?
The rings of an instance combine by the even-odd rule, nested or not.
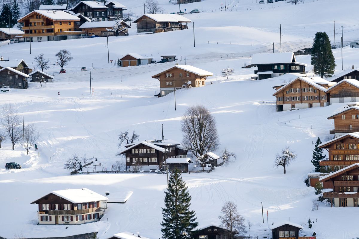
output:
[[[325,32],[317,32],[313,40],[311,64],[314,67],[314,73],[330,77],[334,74],[335,59],[332,53],[330,39]]]

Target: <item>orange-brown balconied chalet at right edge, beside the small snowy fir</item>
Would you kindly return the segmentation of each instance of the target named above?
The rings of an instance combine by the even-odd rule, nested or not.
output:
[[[322,173],[336,172],[353,163],[359,163],[359,133],[348,133],[318,146],[328,151],[327,160],[319,165]]]

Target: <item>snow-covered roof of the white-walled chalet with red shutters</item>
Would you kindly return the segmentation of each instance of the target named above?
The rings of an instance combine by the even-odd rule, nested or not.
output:
[[[66,199],[72,203],[81,203],[81,202],[95,202],[95,201],[106,201],[108,200],[107,197],[98,194],[92,190],[87,188],[76,188],[76,189],[65,189],[65,190],[56,190],[52,191],[51,193]],[[39,199],[41,199],[40,197]],[[39,200],[37,199],[37,200]],[[33,203],[36,203],[36,201]]]

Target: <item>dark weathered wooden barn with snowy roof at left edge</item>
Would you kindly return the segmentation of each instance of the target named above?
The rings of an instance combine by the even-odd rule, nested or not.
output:
[[[27,74],[17,71],[11,67],[4,67],[0,70],[0,87],[15,89],[27,89]]]

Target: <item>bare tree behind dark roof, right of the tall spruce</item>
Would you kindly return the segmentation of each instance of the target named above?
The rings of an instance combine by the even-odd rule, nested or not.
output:
[[[234,202],[225,202],[221,209],[221,214],[218,219],[221,220],[223,228],[230,231],[230,239],[233,239],[233,234],[235,233],[242,235],[247,232],[244,225],[245,219],[238,214],[237,205]]]

